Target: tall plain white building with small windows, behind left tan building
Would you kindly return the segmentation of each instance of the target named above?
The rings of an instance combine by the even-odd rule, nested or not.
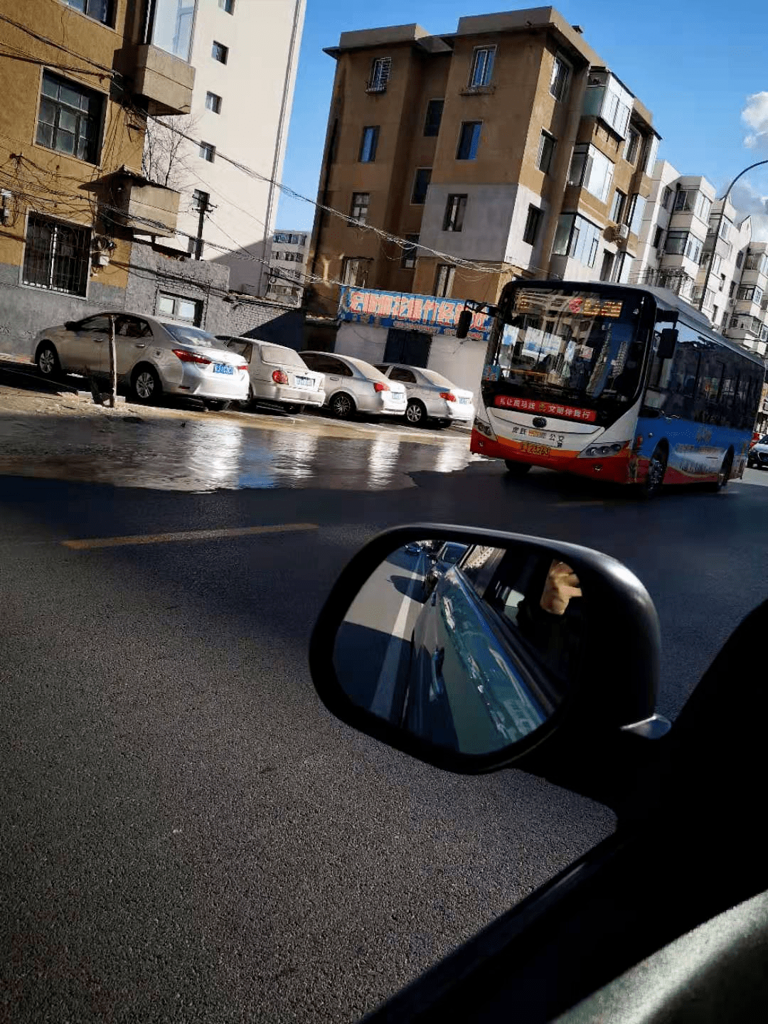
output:
[[[164,245],[228,265],[230,288],[253,295],[267,288],[280,198],[274,182],[283,172],[305,4],[150,4],[153,43],[195,68],[189,115],[169,120],[200,141],[181,140],[174,154],[166,183],[181,193],[179,217],[177,234]]]

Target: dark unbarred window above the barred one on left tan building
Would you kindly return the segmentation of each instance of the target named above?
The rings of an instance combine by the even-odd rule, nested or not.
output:
[[[46,71],[35,141],[95,164],[102,111],[100,93]]]

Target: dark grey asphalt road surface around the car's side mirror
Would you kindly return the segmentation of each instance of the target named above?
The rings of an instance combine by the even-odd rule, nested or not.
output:
[[[536,778],[451,776],[325,711],[309,631],[382,526],[474,523],[622,559],[659,611],[673,716],[768,593],[752,482],[639,504],[492,464],[414,480],[0,477],[3,1020],[352,1021],[610,830]]]

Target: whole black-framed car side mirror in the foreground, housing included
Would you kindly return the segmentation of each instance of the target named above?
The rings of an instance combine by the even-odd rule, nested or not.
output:
[[[321,612],[309,663],[342,721],[475,773],[524,762],[558,732],[585,750],[621,730],[666,732],[658,649],[653,603],[614,559],[432,524],[389,530],[355,555]]]

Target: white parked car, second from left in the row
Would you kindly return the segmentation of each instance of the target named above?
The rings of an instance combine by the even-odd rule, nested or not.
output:
[[[295,349],[256,338],[219,336],[219,340],[248,364],[249,399],[283,406],[291,412],[322,406],[326,400],[325,376],[310,370]]]

